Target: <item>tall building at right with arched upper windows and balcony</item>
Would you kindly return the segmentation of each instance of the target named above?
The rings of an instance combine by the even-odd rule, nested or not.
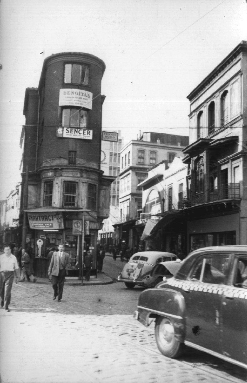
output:
[[[187,252],[247,243],[247,42],[188,95]]]

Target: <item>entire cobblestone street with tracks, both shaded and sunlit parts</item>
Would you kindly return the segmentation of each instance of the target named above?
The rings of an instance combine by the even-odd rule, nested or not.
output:
[[[105,272],[111,263],[106,257]],[[133,318],[141,289],[65,285],[58,303],[41,282],[13,285],[10,313],[0,310],[2,383],[245,380],[243,369],[195,350],[179,360],[162,356],[154,324]]]

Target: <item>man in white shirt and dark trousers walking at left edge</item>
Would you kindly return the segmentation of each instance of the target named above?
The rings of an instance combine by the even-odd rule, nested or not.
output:
[[[4,254],[0,255],[0,297],[1,308],[5,305],[5,310],[10,311],[8,305],[11,300],[11,289],[13,285],[14,275],[15,283],[17,283],[18,263],[15,255],[11,254],[10,246],[4,246]]]

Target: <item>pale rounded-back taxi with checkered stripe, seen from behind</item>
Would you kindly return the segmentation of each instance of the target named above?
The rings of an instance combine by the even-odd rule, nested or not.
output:
[[[162,251],[141,251],[132,255],[123,270],[119,273],[117,280],[124,282],[127,288],[134,288],[135,285],[146,287],[146,276],[151,272],[154,265],[159,262],[176,260],[173,253]]]

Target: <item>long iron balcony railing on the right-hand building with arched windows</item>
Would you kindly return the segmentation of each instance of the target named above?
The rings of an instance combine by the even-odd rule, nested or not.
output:
[[[190,193],[179,201],[179,209],[221,200],[239,200],[240,183],[223,183],[220,188],[208,192]]]

